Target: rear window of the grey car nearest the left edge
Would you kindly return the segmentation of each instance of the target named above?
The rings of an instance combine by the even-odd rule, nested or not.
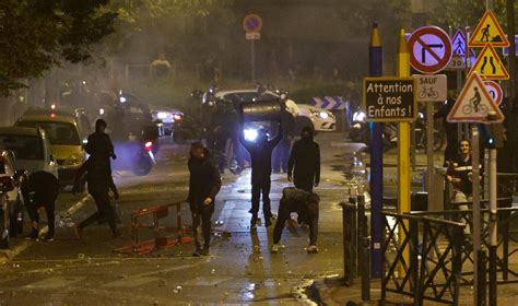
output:
[[[0,134],[0,149],[13,151],[19,160],[44,158],[42,139],[35,136]]]

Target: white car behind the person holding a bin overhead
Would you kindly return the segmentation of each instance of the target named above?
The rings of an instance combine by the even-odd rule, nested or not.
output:
[[[251,102],[251,101],[269,101],[269,99],[276,99],[280,98],[280,95],[271,92],[266,91],[260,97],[257,90],[236,90],[236,91],[220,91],[215,93],[216,98],[226,99],[226,101],[237,101],[239,103],[243,102]],[[290,102],[287,99],[287,110],[290,113]],[[334,115],[327,109],[318,108],[311,105],[306,104],[295,104],[298,108],[297,117],[295,118],[296,123],[296,131],[297,133],[302,130],[303,127],[309,126],[316,132],[322,131],[334,131],[337,129],[337,119]],[[295,107],[293,107],[294,109]],[[292,109],[292,110],[293,110]]]

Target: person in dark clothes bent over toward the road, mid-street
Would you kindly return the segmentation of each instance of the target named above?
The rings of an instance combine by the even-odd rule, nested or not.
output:
[[[287,187],[282,190],[282,198],[279,203],[279,214],[273,228],[272,252],[279,251],[279,243],[281,240],[284,223],[290,220],[290,214],[296,212],[298,222],[309,225],[309,247],[307,252],[318,252],[318,204],[320,198],[314,193],[303,189]]]

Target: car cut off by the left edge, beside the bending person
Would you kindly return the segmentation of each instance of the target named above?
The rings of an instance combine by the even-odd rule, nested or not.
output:
[[[10,237],[23,232],[23,170],[16,168],[14,154],[0,151],[0,248],[9,247]]]

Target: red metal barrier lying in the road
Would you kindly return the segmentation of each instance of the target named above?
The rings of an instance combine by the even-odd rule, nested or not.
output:
[[[156,249],[174,247],[178,244],[187,244],[192,238],[187,236],[187,226],[181,222],[181,204],[185,201],[175,202],[165,205],[156,205],[134,211],[131,214],[131,232],[133,243],[128,246],[115,249],[116,252],[144,255]],[[170,209],[176,209],[176,226],[161,226],[160,221],[170,215]],[[151,223],[140,222],[143,217],[151,217]],[[141,242],[140,231],[152,229],[151,240]],[[165,232],[173,232],[174,235],[165,236]]]

